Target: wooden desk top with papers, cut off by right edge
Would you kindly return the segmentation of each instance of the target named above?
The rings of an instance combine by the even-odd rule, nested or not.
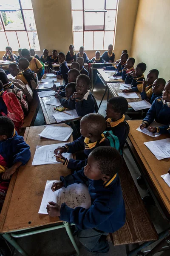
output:
[[[170,214],[170,187],[167,183],[160,177],[167,173],[170,168],[170,158],[158,160],[152,152],[144,145],[144,142],[161,140],[170,137],[168,134],[161,134],[159,137],[153,138],[146,134],[143,134],[136,129],[141,124],[142,120],[130,120],[127,123],[130,126],[129,140],[136,149],[147,174],[150,178],[151,183],[153,183],[156,191],[161,198],[164,206],[166,207],[168,213]]]

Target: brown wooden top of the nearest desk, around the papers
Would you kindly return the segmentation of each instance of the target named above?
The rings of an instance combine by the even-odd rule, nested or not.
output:
[[[56,126],[68,127],[65,124]],[[38,214],[42,195],[47,180],[59,180],[61,175],[70,174],[70,170],[62,164],[32,166],[37,145],[61,143],[57,140],[40,139],[39,135],[44,126],[27,127],[24,140],[30,145],[31,159],[26,166],[21,166],[18,172],[12,175],[6,199],[0,214],[0,232],[9,232],[31,227],[39,227],[59,221],[45,214]],[[73,137],[69,138],[70,142]],[[63,142],[63,145],[66,142]],[[31,222],[31,223],[30,223]]]

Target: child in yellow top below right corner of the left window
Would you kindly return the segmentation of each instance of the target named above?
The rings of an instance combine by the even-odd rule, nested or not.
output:
[[[34,58],[34,56],[31,56],[28,49],[22,49],[21,55],[23,58],[26,58],[29,61],[29,68],[33,72],[37,73],[38,79],[41,79],[44,74],[44,70],[42,69],[43,65],[41,62],[37,60],[37,58]]]

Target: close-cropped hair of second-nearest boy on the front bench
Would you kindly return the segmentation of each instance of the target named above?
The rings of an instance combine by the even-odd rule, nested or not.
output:
[[[88,128],[88,133],[92,135],[100,135],[106,129],[105,117],[101,114],[90,113],[82,117],[81,121],[84,121]]]

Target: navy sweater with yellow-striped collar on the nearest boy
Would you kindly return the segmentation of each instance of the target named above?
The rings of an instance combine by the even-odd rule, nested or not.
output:
[[[107,170],[106,170],[107,172]],[[65,203],[61,205],[60,220],[74,223],[80,230],[96,228],[107,233],[113,233],[125,224],[125,203],[118,174],[110,180],[90,180],[82,168],[60,180],[64,187],[74,183],[88,183],[91,196],[91,207],[72,209]],[[109,183],[111,182],[111,183]]]

